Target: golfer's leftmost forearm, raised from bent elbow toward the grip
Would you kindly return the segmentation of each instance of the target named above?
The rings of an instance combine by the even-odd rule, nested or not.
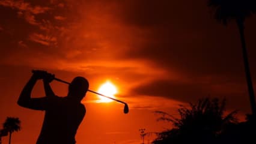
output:
[[[29,107],[29,103],[31,102],[31,92],[36,82],[37,82],[37,78],[33,75],[29,79],[28,83],[26,83],[22,92],[20,93],[19,100],[17,101],[19,106]]]

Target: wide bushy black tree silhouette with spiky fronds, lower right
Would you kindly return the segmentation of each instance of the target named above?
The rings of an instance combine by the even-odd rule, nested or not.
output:
[[[159,133],[153,143],[215,143],[216,136],[227,125],[237,123],[237,111],[225,116],[224,112],[225,100],[219,101],[218,98],[204,98],[195,104],[189,103],[189,108],[180,106],[180,118],[157,111],[161,115],[157,120],[172,122],[174,128]]]

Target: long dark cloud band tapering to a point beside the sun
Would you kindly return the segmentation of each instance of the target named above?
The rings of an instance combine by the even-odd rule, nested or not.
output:
[[[221,80],[220,80],[221,81]],[[151,95],[165,97],[190,103],[204,97],[227,98],[228,108],[248,112],[249,96],[246,86],[237,83],[214,82],[177,82],[172,80],[156,80],[132,89],[135,95]]]

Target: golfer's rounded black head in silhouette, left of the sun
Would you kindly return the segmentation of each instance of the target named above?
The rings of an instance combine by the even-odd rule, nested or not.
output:
[[[84,77],[75,77],[69,85],[69,96],[82,100],[89,88],[88,80]]]

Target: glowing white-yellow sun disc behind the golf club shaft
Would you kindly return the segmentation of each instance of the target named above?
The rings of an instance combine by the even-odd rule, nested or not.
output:
[[[107,81],[100,86],[98,92],[108,97],[115,98],[114,95],[117,94],[117,88],[111,82]],[[113,101],[109,98],[102,97],[102,96],[99,96],[99,98],[100,98],[100,100],[98,101],[99,103],[109,103]]]

